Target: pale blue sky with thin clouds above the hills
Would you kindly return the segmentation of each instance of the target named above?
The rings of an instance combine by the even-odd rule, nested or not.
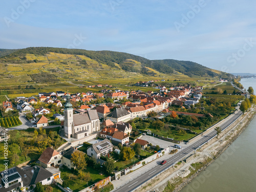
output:
[[[111,50],[256,73],[254,0],[10,0],[0,48]]]

